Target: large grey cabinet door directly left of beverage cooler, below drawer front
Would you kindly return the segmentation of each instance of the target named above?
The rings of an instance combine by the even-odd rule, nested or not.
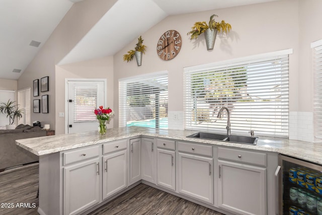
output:
[[[240,214],[266,214],[266,169],[218,160],[218,206]]]

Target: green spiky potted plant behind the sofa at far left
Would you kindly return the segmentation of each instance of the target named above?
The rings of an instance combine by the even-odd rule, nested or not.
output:
[[[9,117],[9,125],[6,125],[6,129],[15,129],[15,118],[17,117],[19,120],[22,117],[23,110],[18,109],[18,104],[14,105],[14,103],[9,99],[7,103],[2,102],[0,104],[0,113],[7,114],[7,118]]]

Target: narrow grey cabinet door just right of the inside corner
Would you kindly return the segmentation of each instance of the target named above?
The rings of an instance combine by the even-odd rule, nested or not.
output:
[[[154,183],[154,139],[141,139],[142,179]]]

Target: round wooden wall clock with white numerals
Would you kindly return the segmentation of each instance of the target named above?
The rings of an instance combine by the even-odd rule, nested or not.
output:
[[[156,53],[163,60],[176,57],[181,49],[182,40],[178,31],[169,30],[162,34],[157,41]]]

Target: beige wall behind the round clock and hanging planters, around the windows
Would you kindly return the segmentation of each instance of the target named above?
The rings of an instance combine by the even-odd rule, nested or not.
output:
[[[219,16],[217,21],[225,20],[230,23],[232,31],[228,37],[217,35],[214,49],[207,51],[203,35],[197,40],[190,40],[187,32],[197,21],[208,22],[212,14]],[[135,60],[127,63],[122,59],[123,54],[134,48],[136,39],[114,55],[114,83],[121,78],[168,70],[169,112],[180,113],[183,111],[184,67],[293,48],[293,54],[290,55],[290,110],[297,111],[298,99],[302,99],[298,98],[300,72],[298,19],[299,1],[296,0],[167,17],[142,33],[147,51],[142,57],[141,66],[138,67]],[[181,34],[182,48],[177,57],[163,61],[157,56],[156,43],[160,35],[171,29]],[[305,87],[302,90],[307,91]],[[118,107],[117,84],[114,85],[114,107]],[[169,121],[169,127],[173,127],[171,119]],[[118,120],[114,120],[114,125],[118,126]]]

